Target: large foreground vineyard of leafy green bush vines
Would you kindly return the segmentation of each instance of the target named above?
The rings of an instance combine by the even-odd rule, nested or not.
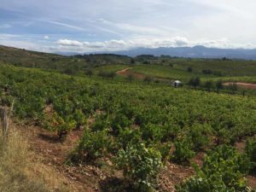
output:
[[[123,172],[125,185],[113,191],[165,191],[159,176],[170,163],[195,169],[193,177],[177,183],[179,192],[253,191],[246,179],[256,167],[253,96],[9,65],[0,67],[0,89],[1,106],[15,101],[15,119],[44,127],[60,142],[83,131],[66,162],[97,166],[109,160],[114,171]],[[196,165],[193,159],[201,153],[204,159]]]

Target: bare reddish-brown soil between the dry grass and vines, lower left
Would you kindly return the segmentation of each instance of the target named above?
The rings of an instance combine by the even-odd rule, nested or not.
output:
[[[82,131],[73,131],[65,142],[60,142],[55,134],[44,131],[40,127],[20,126],[20,131],[27,136],[35,158],[44,166],[54,167],[62,177],[66,177],[66,183],[71,191],[99,191],[98,184],[106,177],[96,166],[67,166],[65,163],[68,155],[76,147]]]

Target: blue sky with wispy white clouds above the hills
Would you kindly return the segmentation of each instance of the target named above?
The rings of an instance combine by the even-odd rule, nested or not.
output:
[[[0,44],[90,52],[256,48],[255,0],[1,0]]]

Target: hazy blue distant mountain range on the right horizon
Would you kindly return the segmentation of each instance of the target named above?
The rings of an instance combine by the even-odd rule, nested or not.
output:
[[[207,48],[201,45],[195,47],[177,47],[177,48],[138,48],[124,51],[115,51],[119,55],[172,55],[191,58],[221,58],[228,57],[232,59],[256,60],[256,49],[218,49]]]

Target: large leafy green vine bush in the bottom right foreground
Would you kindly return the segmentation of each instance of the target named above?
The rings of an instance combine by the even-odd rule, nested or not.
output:
[[[235,148],[223,145],[207,154],[203,166],[196,168],[196,176],[177,186],[178,192],[247,191],[244,175],[247,159]]]

